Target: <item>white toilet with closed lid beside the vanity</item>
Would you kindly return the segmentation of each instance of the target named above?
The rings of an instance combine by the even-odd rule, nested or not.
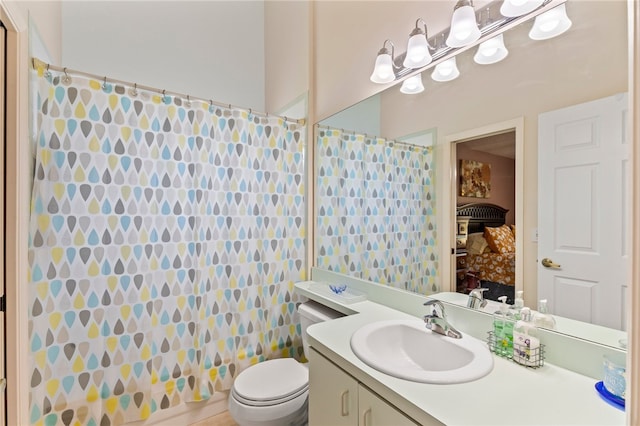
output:
[[[307,327],[344,316],[314,301],[298,307],[302,345],[309,354]],[[240,426],[301,426],[307,424],[309,371],[293,358],[253,365],[236,377],[229,396],[229,414]]]

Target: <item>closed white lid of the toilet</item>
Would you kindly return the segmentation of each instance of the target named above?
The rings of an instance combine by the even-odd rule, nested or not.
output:
[[[233,383],[233,393],[247,402],[277,403],[305,392],[308,385],[306,368],[293,358],[280,358],[244,370]]]

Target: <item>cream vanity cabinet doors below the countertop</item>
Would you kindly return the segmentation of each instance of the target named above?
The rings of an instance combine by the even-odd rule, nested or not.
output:
[[[416,426],[402,412],[311,348],[309,426]]]

